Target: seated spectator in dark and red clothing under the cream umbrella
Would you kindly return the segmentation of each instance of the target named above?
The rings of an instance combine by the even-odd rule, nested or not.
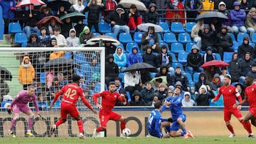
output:
[[[135,4],[131,5],[128,16],[129,16],[129,21],[128,21],[129,29],[134,31],[139,24],[142,24],[142,17],[140,16],[139,11],[137,11],[137,6]]]

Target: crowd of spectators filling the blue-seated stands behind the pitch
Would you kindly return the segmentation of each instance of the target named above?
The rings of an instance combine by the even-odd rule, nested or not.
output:
[[[141,32],[140,42],[130,47],[128,47],[129,43],[114,45],[110,41],[104,42],[105,85],[107,87],[109,82],[115,82],[117,92],[125,94],[129,99],[126,105],[151,106],[154,101],[164,101],[167,96],[171,96],[176,87],[181,87],[183,90],[181,92],[183,106],[216,105],[209,99],[218,93],[218,88],[223,85],[225,74],[231,75],[232,83],[238,87],[241,95],[245,89],[245,76],[250,73],[256,78],[256,47],[252,41],[256,36],[255,1],[142,0],[142,2],[146,6],[142,11],[138,11],[135,4],[125,9],[118,4],[119,1],[114,0],[78,0],[68,9],[63,5],[58,6],[58,11],[52,11],[53,8],[47,5],[33,6],[33,4],[27,9],[23,7],[18,9],[15,1],[6,4],[6,0],[3,0],[0,4],[4,9],[5,33],[8,33],[9,21],[22,18],[19,19],[19,23],[27,35],[27,47],[86,47],[87,40],[95,37],[97,33],[105,34],[100,31],[98,23],[110,23],[112,33],[117,39],[120,38],[121,33],[128,33],[134,37],[135,33]],[[224,13],[228,21],[220,21],[218,18],[212,18],[210,22],[202,19],[195,20],[199,14],[207,11]],[[78,19],[73,22],[72,18],[64,18],[62,21],[59,19],[72,12],[87,13],[86,21]],[[51,18],[45,26],[38,28],[38,21],[46,16],[57,16],[58,19]],[[156,33],[154,27],[149,26],[148,31],[144,32],[137,28],[141,23],[159,24],[163,21],[169,28],[175,22],[182,23],[184,27],[189,22],[196,22],[191,32],[183,29],[191,38],[192,45],[189,50],[186,50],[186,42],[176,41],[163,45],[161,36],[166,33]],[[238,41],[241,33],[245,36]],[[175,37],[177,38],[179,34],[181,33],[175,33]],[[178,65],[180,61],[177,61],[181,52],[172,51],[173,46],[171,46],[177,42],[181,43],[182,50],[187,52],[186,61],[181,65]],[[65,53],[64,51],[25,53],[18,72],[18,79],[23,89],[28,85],[36,84],[35,78],[40,77],[38,74],[41,73],[46,62],[63,57]],[[225,56],[227,53],[231,53],[232,56]],[[77,52],[73,52],[71,58],[76,54]],[[185,54],[182,53],[182,55]],[[228,67],[214,65],[208,68],[201,67],[203,63],[210,60],[225,61],[227,58],[230,58],[226,61],[229,63]],[[85,60],[91,67],[87,74],[97,79],[100,74],[100,59],[97,52],[86,55]],[[157,69],[122,72],[137,62],[149,63]],[[76,73],[74,67],[66,68],[68,70],[50,69],[45,72],[46,93],[38,92],[41,109],[47,106],[44,101],[51,101],[55,93],[70,82],[68,77]],[[87,99],[90,99],[90,95],[98,90],[95,89],[95,85],[99,79],[92,81],[85,74],[80,73],[80,75],[82,76],[80,86],[87,92]],[[88,81],[90,84],[87,84]],[[122,103],[117,102],[117,105],[120,106]]]

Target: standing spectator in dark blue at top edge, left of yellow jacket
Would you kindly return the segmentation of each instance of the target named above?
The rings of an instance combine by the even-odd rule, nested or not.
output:
[[[184,4],[186,11],[186,18],[188,22],[195,22],[198,12],[201,11],[203,5],[201,0],[185,0]]]

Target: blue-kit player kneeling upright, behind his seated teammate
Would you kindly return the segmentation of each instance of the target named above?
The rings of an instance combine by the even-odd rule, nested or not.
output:
[[[170,106],[171,117],[173,118],[173,123],[169,133],[171,137],[183,136],[183,138],[193,138],[193,134],[191,133],[191,131],[186,131],[186,114],[182,111],[181,101],[181,88],[176,87],[176,89],[174,90],[174,95],[169,96],[164,102],[164,106],[162,106],[161,108],[161,113],[166,109],[166,106]],[[179,128],[181,128],[181,132],[178,132]]]

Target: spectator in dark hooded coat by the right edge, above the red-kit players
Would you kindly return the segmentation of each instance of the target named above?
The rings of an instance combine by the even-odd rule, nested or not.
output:
[[[245,60],[245,53],[250,52],[252,59],[255,57],[255,49],[249,45],[249,38],[245,37],[242,40],[242,45],[238,47],[238,60],[241,62]]]

